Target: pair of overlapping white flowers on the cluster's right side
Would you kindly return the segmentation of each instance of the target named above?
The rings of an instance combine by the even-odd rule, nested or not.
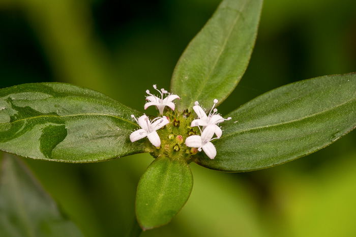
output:
[[[211,141],[219,139],[222,135],[222,130],[218,124],[224,122],[225,120],[231,120],[231,117],[224,119],[217,113],[218,110],[214,108],[217,103],[218,100],[215,99],[214,105],[208,115],[206,115],[205,111],[199,106],[198,101],[194,103],[195,105],[193,106],[193,110],[198,115],[199,119],[193,120],[191,127],[198,126],[201,136],[190,136],[185,142],[189,147],[198,148],[199,152],[201,152],[202,149],[210,159],[214,159],[216,156],[216,149]],[[203,130],[201,130],[199,126],[202,126]],[[216,137],[213,138],[214,134],[216,134]]]

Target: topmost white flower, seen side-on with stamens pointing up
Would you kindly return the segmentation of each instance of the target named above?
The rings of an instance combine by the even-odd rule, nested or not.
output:
[[[174,99],[181,99],[181,98],[177,95],[172,95],[172,94],[168,93],[163,88],[161,89],[161,91],[157,90],[156,85],[153,85],[153,87],[155,88],[156,91],[158,91],[161,94],[161,98],[158,98],[157,96],[150,94],[150,91],[147,90],[146,93],[149,94],[150,96],[147,96],[146,100],[148,100],[150,102],[147,102],[144,105],[144,109],[147,109],[151,105],[155,105],[158,108],[158,110],[160,111],[160,114],[163,114],[164,107],[166,107],[166,106],[168,106],[172,110],[174,110],[175,104],[172,101]],[[163,99],[164,94],[168,94],[168,96],[166,96],[166,98]]]

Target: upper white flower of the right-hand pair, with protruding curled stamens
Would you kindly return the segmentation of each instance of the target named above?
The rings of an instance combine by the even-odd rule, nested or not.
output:
[[[224,122],[225,120],[231,120],[231,117],[228,117],[227,119],[224,119],[220,114],[218,114],[218,109],[214,109],[216,103],[218,103],[218,100],[214,100],[214,105],[212,109],[210,110],[209,114],[206,115],[205,111],[199,106],[198,101],[195,101],[195,105],[193,106],[193,110],[195,113],[198,115],[199,119],[193,120],[192,124],[190,125],[191,127],[194,126],[202,126],[203,129],[209,125],[214,125],[215,127],[215,134],[218,137],[221,137],[222,130],[217,124]],[[213,111],[213,113],[212,113]]]

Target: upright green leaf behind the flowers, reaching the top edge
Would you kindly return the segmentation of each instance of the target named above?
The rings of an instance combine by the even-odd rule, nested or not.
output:
[[[195,101],[221,103],[239,83],[255,43],[262,0],[225,0],[178,61],[171,92],[181,97],[177,109]]]

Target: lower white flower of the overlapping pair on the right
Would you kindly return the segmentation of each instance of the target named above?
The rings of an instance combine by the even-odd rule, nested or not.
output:
[[[185,142],[186,145],[189,147],[196,147],[199,152],[201,152],[201,149],[203,149],[205,154],[210,159],[214,159],[216,156],[216,149],[211,141],[214,139],[218,139],[218,137],[213,138],[215,133],[215,126],[216,125],[206,126],[206,128],[202,131],[201,136],[193,135],[187,137]]]

